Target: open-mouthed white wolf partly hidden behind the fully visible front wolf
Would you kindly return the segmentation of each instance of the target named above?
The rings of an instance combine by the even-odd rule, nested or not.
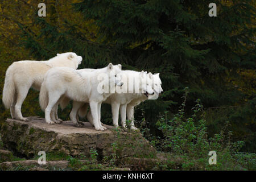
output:
[[[92,69],[82,69],[84,71],[92,71]],[[114,93],[109,96],[105,101],[106,104],[110,104],[112,106],[112,116],[113,116],[113,125],[118,127],[118,116],[119,111],[121,113],[121,123],[123,127],[126,127],[126,106],[134,99],[139,98],[148,98],[148,96],[152,96],[154,94],[154,90],[151,87],[151,79],[152,77],[148,77],[147,72],[136,72],[136,71],[122,71],[123,75],[123,92]],[[135,82],[134,82],[135,81]],[[130,85],[130,83],[132,84]],[[136,85],[137,82],[137,85]],[[136,87],[138,87],[136,89]],[[66,100],[67,102],[67,100]],[[65,107],[67,103],[61,103],[61,108]],[[70,117],[72,120],[78,122],[78,116],[85,117],[88,110],[88,104],[84,104],[82,102],[73,102],[72,111],[70,113]],[[86,115],[89,122],[93,125],[92,114],[89,110],[89,113]]]

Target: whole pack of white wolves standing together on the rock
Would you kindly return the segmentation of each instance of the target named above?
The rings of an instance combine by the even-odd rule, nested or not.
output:
[[[2,101],[11,117],[28,121],[21,112],[22,104],[32,87],[40,91],[39,104],[46,123],[59,124],[57,111],[72,101],[69,117],[76,127],[79,118],[87,118],[96,130],[107,130],[101,123],[101,104],[112,107],[113,125],[126,128],[126,119],[134,125],[134,107],[141,102],[157,99],[163,93],[159,73],[122,70],[122,65],[109,63],[100,69],[77,69],[82,57],[74,52],[58,53],[47,61],[16,61],[6,71]],[[127,116],[127,117],[126,117]]]

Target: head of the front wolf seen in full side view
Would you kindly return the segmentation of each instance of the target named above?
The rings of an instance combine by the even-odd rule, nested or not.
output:
[[[122,65],[113,65],[112,63],[109,63],[107,67],[107,72],[109,76],[110,84],[114,84],[117,86],[122,86]]]

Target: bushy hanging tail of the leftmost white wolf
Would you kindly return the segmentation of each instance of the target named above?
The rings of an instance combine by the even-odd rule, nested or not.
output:
[[[15,83],[14,83],[14,64],[10,65],[10,67],[6,71],[5,75],[5,85],[3,86],[3,105],[5,105],[6,109],[10,109],[11,104],[13,103],[15,97]]]

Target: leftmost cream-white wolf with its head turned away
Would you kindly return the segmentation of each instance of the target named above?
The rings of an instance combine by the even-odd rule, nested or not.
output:
[[[2,98],[6,109],[11,110],[11,117],[23,121],[28,120],[22,116],[22,103],[31,86],[35,90],[40,90],[44,75],[50,68],[70,67],[77,69],[81,61],[81,56],[67,52],[57,54],[56,57],[48,61],[16,61],[11,64],[6,71]]]

